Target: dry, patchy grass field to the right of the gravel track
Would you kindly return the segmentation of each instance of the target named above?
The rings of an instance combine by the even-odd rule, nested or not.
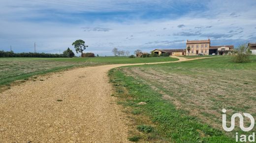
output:
[[[222,129],[223,108],[228,122],[233,113],[256,117],[256,56],[251,58],[247,64],[222,56],[110,71],[115,96],[134,123],[130,140],[232,143],[235,132],[256,132],[242,132],[238,126],[230,133]],[[140,132],[139,125],[154,132]]]

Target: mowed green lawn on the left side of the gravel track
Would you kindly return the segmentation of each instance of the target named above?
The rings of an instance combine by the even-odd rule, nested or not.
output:
[[[171,57],[0,58],[0,86],[9,85],[15,80],[28,80],[28,78],[33,75],[60,71],[73,67],[175,60],[177,59]]]

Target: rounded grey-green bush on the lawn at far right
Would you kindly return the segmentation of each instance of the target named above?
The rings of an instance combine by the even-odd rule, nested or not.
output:
[[[233,61],[235,63],[250,63],[250,55],[252,54],[251,50],[249,47],[246,45],[241,45],[238,48],[237,55],[234,56]]]

